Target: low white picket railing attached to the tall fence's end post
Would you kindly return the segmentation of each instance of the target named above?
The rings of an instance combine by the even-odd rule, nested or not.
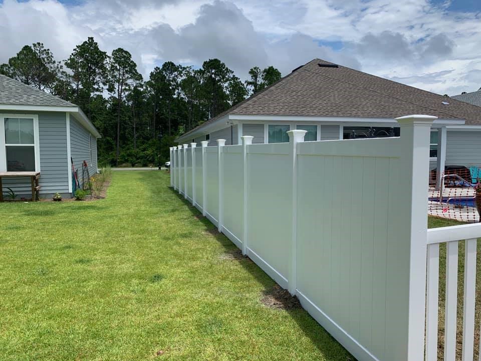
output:
[[[426,361],[438,359],[439,316],[439,245],[446,244],[446,286],[444,309],[444,360],[456,359],[458,246],[464,241],[464,290],[462,317],[463,361],[474,354],[474,306],[476,297],[476,248],[481,224],[434,228],[428,230],[426,292]]]

